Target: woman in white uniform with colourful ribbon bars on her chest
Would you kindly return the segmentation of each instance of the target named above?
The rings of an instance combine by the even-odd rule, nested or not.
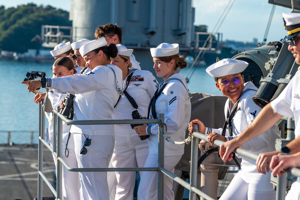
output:
[[[136,69],[132,66],[129,57],[132,55],[133,49],[127,49],[123,45],[116,46],[118,48],[118,55],[115,58],[111,58],[111,64],[122,69],[122,89],[127,94],[126,97],[120,98],[117,103],[113,119],[130,119],[134,110],[138,110],[140,115],[145,116],[148,112],[150,99],[159,84],[151,72]],[[131,125],[114,125],[114,127],[116,142],[112,157],[113,167],[144,167],[149,153],[147,139],[141,140],[136,137],[136,133]],[[142,171],[140,171],[141,175]],[[118,183],[115,199],[132,200],[135,186],[135,172],[117,171],[116,176]]]

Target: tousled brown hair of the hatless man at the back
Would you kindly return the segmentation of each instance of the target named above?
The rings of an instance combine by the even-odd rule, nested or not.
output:
[[[102,26],[98,26],[95,31],[95,38],[101,38],[105,35],[118,35],[120,42],[122,42],[122,29],[117,24],[107,23]]]

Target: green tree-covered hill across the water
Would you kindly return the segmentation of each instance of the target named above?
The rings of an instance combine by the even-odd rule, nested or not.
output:
[[[29,3],[7,9],[0,6],[0,48],[20,53],[37,48],[36,42],[30,40],[41,34],[41,25],[72,26],[72,22],[68,11],[50,5]]]

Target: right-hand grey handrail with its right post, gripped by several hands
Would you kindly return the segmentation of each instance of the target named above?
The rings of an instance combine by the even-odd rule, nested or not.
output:
[[[198,125],[195,125],[195,124],[194,124],[193,137],[197,137],[201,140],[205,140],[205,141],[209,142],[206,135],[198,132]],[[217,146],[220,146],[222,143],[224,143],[224,142],[221,140],[214,141],[214,144]],[[255,161],[258,158],[257,154],[247,151],[245,149],[237,148],[237,149],[235,149],[234,152],[236,152],[244,157],[255,160]],[[298,169],[298,168],[289,168],[289,169],[283,170],[283,171],[286,173],[290,173],[294,176],[300,177],[300,169]],[[284,200],[285,199],[286,173],[284,173],[284,175],[281,175],[280,177],[278,177],[278,183],[277,183],[277,188],[276,188],[276,200]]]

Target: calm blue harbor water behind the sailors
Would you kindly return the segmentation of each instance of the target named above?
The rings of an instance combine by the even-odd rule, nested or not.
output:
[[[38,142],[38,105],[34,103],[34,94],[28,92],[21,81],[31,71],[46,72],[52,77],[53,61],[16,61],[0,60],[2,77],[0,78],[0,144],[7,143],[8,131],[13,143],[29,143],[33,131],[33,142]],[[191,64],[190,64],[191,65]],[[143,66],[141,66],[143,68]],[[190,92],[222,95],[215,86],[214,78],[205,72],[206,67],[198,67],[189,79]],[[186,75],[189,66],[180,73]],[[153,71],[151,71],[153,72]],[[38,77],[37,79],[39,79]],[[44,91],[44,88],[40,89]],[[47,121],[47,120],[46,120]],[[48,123],[46,122],[46,128]]]

